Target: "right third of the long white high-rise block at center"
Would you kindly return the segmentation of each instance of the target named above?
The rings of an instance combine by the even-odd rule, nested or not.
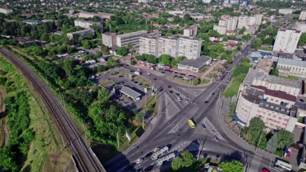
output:
[[[179,38],[179,54],[187,59],[197,59],[201,55],[202,40],[195,37]]]

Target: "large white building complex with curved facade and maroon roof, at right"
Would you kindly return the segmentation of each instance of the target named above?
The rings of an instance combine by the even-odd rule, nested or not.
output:
[[[295,80],[267,75],[252,68],[239,88],[235,120],[249,126],[259,117],[267,131],[285,129],[292,132],[298,119],[296,98],[300,83]]]

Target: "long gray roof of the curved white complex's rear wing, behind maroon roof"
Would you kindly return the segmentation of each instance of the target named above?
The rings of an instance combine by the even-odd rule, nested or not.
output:
[[[258,80],[265,80],[271,83],[277,83],[277,84],[281,84],[281,85],[290,85],[293,88],[297,88],[300,89],[300,82],[297,80],[290,80],[290,79],[285,79],[282,77],[278,77],[278,76],[273,76],[273,75],[266,75],[263,72],[258,72],[252,68],[249,69],[249,72],[247,74],[247,76],[245,77],[244,81],[242,82],[242,84],[250,86],[253,82],[254,79],[258,79]]]

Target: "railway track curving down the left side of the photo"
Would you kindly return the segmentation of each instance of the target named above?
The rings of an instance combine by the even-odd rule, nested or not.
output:
[[[45,82],[9,50],[0,47],[0,54],[11,61],[25,75],[33,89],[40,94],[44,108],[47,110],[47,113],[52,115],[61,135],[66,141],[65,147],[69,146],[72,149],[75,165],[77,165],[78,169],[80,171],[106,171],[99,159],[86,145],[68,114],[64,111]]]

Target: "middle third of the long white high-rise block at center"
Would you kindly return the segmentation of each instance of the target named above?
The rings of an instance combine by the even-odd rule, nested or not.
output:
[[[159,53],[168,54],[172,57],[178,56],[179,39],[175,37],[162,36],[159,38]]]

